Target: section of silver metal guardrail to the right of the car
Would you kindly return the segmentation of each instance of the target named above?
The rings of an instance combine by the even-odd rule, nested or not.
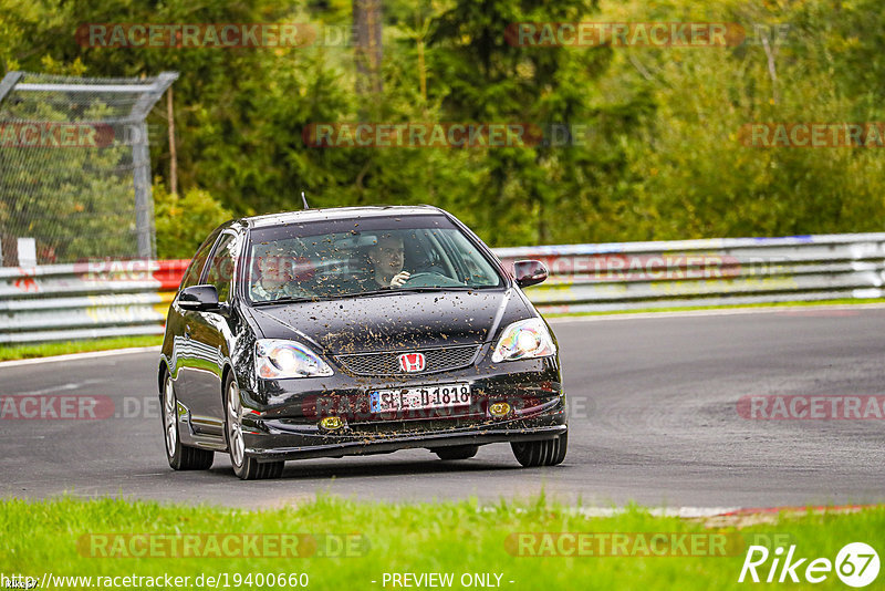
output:
[[[501,248],[550,279],[525,293],[542,312],[871,299],[885,294],[885,234],[718,238]]]

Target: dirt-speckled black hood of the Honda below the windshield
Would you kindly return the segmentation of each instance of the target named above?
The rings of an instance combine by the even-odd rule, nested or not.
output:
[[[535,315],[516,289],[391,293],[251,309],[267,339],[301,339],[331,354],[478,344]]]

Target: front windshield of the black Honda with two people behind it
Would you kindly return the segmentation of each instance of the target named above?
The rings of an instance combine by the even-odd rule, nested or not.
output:
[[[444,216],[254,228],[247,268],[244,289],[254,303],[502,284],[496,267]]]

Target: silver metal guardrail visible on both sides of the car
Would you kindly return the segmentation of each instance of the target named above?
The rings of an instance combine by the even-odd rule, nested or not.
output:
[[[546,313],[885,297],[885,232],[500,248]],[[160,334],[188,261],[0,268],[0,344]]]

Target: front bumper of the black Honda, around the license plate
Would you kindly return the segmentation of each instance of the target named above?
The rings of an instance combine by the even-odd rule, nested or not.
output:
[[[454,383],[470,384],[469,406],[376,416],[361,404],[373,390]],[[332,377],[259,385],[263,386],[259,392],[241,390],[246,453],[259,460],[549,439],[568,429],[565,393],[554,356],[480,364],[407,380],[367,380],[336,373]],[[496,402],[507,402],[510,413],[492,416],[489,406]],[[344,425],[323,428],[320,421],[324,416],[339,416]]]

